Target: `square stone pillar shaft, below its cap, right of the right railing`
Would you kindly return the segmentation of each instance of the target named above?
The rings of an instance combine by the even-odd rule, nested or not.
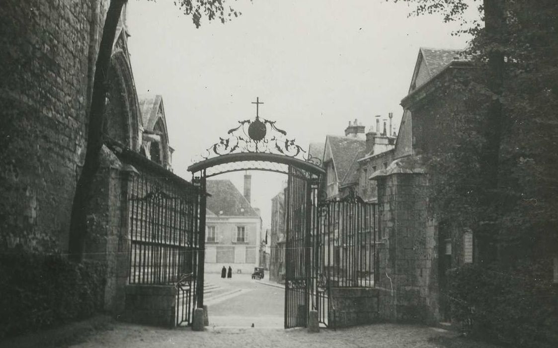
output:
[[[426,216],[424,174],[378,179],[380,204],[380,317],[389,321],[436,322],[437,231]]]

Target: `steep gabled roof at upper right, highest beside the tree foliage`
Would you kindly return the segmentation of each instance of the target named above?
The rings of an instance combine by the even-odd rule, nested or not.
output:
[[[463,50],[432,49],[421,47],[411,79],[409,93],[428,82],[453,61],[468,61]]]

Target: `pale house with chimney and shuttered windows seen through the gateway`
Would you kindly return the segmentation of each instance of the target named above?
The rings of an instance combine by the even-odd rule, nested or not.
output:
[[[262,218],[250,204],[251,175],[244,175],[244,195],[230,180],[207,180],[205,271],[252,273],[259,266]]]

